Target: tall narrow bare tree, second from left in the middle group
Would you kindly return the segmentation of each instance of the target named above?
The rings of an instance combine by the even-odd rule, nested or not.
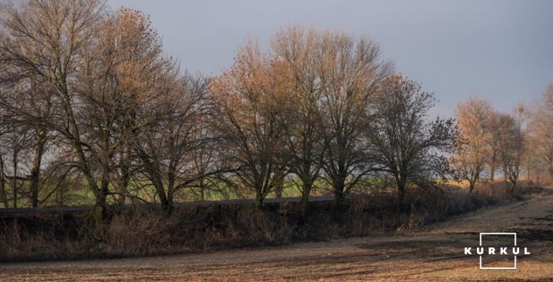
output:
[[[309,195],[320,177],[324,159],[321,142],[320,101],[321,79],[317,76],[317,44],[321,32],[314,28],[290,27],[274,35],[272,52],[281,60],[279,73],[291,81],[290,97],[294,101],[291,122],[285,130],[290,151],[290,172],[299,179],[301,200],[299,211],[306,216]]]

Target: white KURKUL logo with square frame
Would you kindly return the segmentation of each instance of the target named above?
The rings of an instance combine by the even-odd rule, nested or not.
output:
[[[528,254],[528,248],[516,245],[515,232],[480,232],[479,246],[465,248],[465,255],[480,257],[481,270],[516,270],[516,256]],[[500,266],[486,266],[497,265],[498,261]],[[507,265],[505,261],[509,261]]]

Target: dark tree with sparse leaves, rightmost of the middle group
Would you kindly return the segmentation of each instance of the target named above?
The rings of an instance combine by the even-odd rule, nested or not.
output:
[[[433,94],[401,74],[388,77],[374,98],[369,154],[377,169],[395,180],[401,214],[407,185],[424,185],[448,172],[444,153],[456,148],[458,130],[453,119],[429,121]]]

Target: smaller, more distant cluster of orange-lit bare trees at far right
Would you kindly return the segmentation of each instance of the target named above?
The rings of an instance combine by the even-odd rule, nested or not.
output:
[[[481,179],[495,181],[496,172],[513,190],[523,174],[536,182],[553,176],[553,84],[535,105],[519,104],[510,113],[471,97],[456,114],[464,141],[451,162],[457,177],[469,182],[469,191]]]

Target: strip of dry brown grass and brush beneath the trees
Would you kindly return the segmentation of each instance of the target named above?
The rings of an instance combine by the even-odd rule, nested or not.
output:
[[[146,207],[113,214],[98,236],[85,214],[55,214],[3,219],[0,260],[84,259],[156,254],[182,254],[245,246],[318,241],[374,232],[413,230],[449,216],[511,203],[524,194],[543,192],[521,185],[482,183],[472,194],[450,185],[409,190],[411,213],[395,214],[393,197],[362,197],[340,213],[330,203],[312,203],[303,220],[290,203],[256,210],[247,205],[203,205],[177,208],[169,217]]]

